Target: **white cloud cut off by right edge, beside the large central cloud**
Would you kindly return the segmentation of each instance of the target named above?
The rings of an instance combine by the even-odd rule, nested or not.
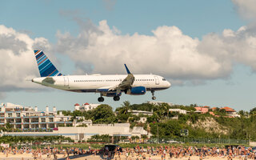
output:
[[[234,63],[256,70],[256,33],[246,26],[238,31],[224,30],[221,35],[207,34],[198,45],[198,51],[218,59],[224,70],[231,70]]]

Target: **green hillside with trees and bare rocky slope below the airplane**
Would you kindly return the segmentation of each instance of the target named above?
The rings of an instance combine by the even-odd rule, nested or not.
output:
[[[211,114],[194,113],[196,105],[169,106],[166,103],[153,105],[149,103],[134,104],[124,102],[116,108],[115,112],[111,106],[100,105],[94,110],[74,112],[64,111],[65,115],[84,116],[94,123],[130,122],[130,127],[143,126],[153,137],[159,135],[161,138],[180,138],[181,130],[189,130],[188,138],[235,138],[256,141],[256,108],[246,112],[240,110],[241,118],[227,118],[222,110],[215,110],[215,117]],[[190,111],[188,114],[171,113],[169,109],[178,108]],[[147,116],[131,114],[131,110],[153,111],[153,115]],[[178,116],[178,119],[173,119]],[[141,117],[146,117],[146,123],[139,122]]]

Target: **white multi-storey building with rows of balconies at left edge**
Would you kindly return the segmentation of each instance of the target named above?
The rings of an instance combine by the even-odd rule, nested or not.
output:
[[[0,106],[0,126],[4,127],[9,123],[14,129],[19,130],[53,130],[58,126],[73,126],[70,122],[71,116],[64,116],[62,112],[57,114],[56,107],[50,111],[46,106],[46,110],[38,111],[35,106],[20,106],[12,103],[2,103]]]

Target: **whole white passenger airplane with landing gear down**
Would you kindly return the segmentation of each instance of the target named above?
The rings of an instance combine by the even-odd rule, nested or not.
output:
[[[46,57],[42,50],[34,50],[41,78],[31,81],[42,86],[49,86],[58,90],[73,92],[99,93],[98,102],[103,102],[106,97],[113,97],[119,101],[123,93],[130,95],[143,95],[150,91],[155,100],[154,91],[166,90],[170,82],[155,74],[131,74],[125,64],[127,74],[91,74],[91,75],[63,75]]]

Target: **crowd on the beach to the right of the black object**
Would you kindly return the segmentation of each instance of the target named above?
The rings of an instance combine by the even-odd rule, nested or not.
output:
[[[233,158],[238,158],[240,160],[246,159],[256,159],[256,150],[252,148],[247,148],[244,146],[226,146],[222,148],[218,147],[201,147],[196,146],[147,146],[146,148],[137,146],[134,148],[122,149],[122,152],[115,151],[115,155],[112,155],[112,158],[121,159],[121,155],[124,155],[127,160],[142,160],[148,159],[152,160],[153,157],[161,157],[162,160],[172,159],[172,158],[186,158],[190,160],[191,156],[197,156],[198,159],[202,160],[203,158],[226,158],[232,160]],[[111,159],[111,154],[104,153],[106,159]],[[106,157],[106,155],[108,155]]]

